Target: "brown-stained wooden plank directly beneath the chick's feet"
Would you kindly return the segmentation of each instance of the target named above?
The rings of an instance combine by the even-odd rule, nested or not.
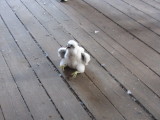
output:
[[[34,5],[33,1],[29,1],[29,2],[31,2],[32,5]],[[16,4],[19,5],[20,3],[17,2]],[[18,16],[20,17],[20,19],[25,23],[26,21],[25,21],[25,18],[22,16],[21,11],[16,11],[16,12],[18,13]],[[27,12],[27,10],[25,12],[26,12],[26,16],[28,17],[29,13]],[[52,41],[52,38],[50,37],[46,39],[47,32],[43,27],[41,27],[41,25],[38,22],[36,22],[36,19],[34,17],[33,18],[30,17],[30,19],[34,23],[34,25],[28,25],[28,24],[25,24],[25,25],[29,29],[29,31],[33,33],[36,40],[38,40],[38,42],[40,42],[41,44],[45,44],[46,41]],[[38,28],[39,35],[36,34],[37,29],[35,28]],[[44,42],[42,38],[44,38],[46,41]],[[56,64],[56,66],[58,67],[59,61],[56,62],[57,58],[55,56],[57,56],[57,49],[60,46],[59,45],[57,46],[56,42],[55,44],[45,44],[45,46],[47,46],[48,49],[54,48],[54,51],[56,51],[56,52],[53,52],[53,51],[51,52],[54,56],[54,64]],[[91,81],[89,81],[87,76],[83,75],[77,78],[76,81],[70,81],[70,85],[71,86],[74,85],[73,86],[74,90],[78,93],[79,97],[83,100],[83,102],[87,105],[87,107],[89,107],[89,109],[94,113],[97,119],[103,120],[103,119],[113,118],[113,119],[123,120],[123,117],[121,116],[121,114],[114,108],[114,106],[110,103],[110,101],[108,101],[105,98],[105,96],[99,91],[99,89],[97,89],[97,87]]]

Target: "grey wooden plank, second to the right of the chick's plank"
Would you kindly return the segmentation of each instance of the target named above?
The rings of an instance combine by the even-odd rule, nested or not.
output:
[[[47,9],[47,11],[49,11],[49,13],[50,14],[52,14],[53,15],[53,17],[55,17],[56,19],[58,19],[58,21],[60,21],[60,23],[61,24],[63,24],[63,26],[65,27],[65,29],[67,29],[68,31],[70,31],[71,33],[72,33],[72,35],[74,35],[74,37],[76,38],[76,39],[78,39],[78,40],[83,40],[83,41],[79,41],[81,44],[83,44],[90,52],[92,52],[92,51],[94,51],[96,48],[98,48],[97,46],[95,46],[95,43],[94,44],[92,44],[93,43],[93,41],[91,40],[91,38],[90,37],[86,37],[86,34],[83,32],[83,31],[78,31],[79,30],[79,28],[74,24],[74,22],[73,21],[70,21],[70,22],[72,22],[72,23],[70,23],[70,22],[68,22],[68,21],[63,21],[62,22],[62,17],[57,17],[57,15],[61,15],[62,13],[59,13],[58,11],[56,11],[56,9],[54,8],[54,7],[52,7],[53,6],[53,4],[52,5],[50,5],[50,4],[47,4],[47,5],[49,5],[49,6],[47,6],[47,7],[44,7],[45,9]],[[45,5],[46,6],[46,5]],[[51,12],[52,11],[52,12]],[[65,17],[66,18],[66,17]],[[67,23],[68,22],[68,23]],[[69,25],[69,28],[68,27],[66,27],[67,25]],[[72,26],[73,25],[73,26]],[[74,29],[74,30],[72,30],[73,28],[76,28],[76,29]],[[75,31],[76,30],[76,31]],[[78,31],[78,32],[77,32]],[[83,33],[83,35],[82,35],[82,33]],[[77,37],[78,36],[78,37]],[[87,39],[86,39],[87,38]],[[90,43],[89,41],[92,41],[92,43]],[[88,46],[88,47],[87,47]],[[94,48],[93,48],[94,47]],[[92,49],[92,50],[91,50]],[[99,50],[97,50],[98,52],[97,53],[104,53],[105,54],[105,52],[102,52],[102,51],[99,51]],[[94,55],[94,54],[93,54]],[[105,55],[104,55],[105,56]],[[103,57],[104,57],[103,56]],[[96,56],[96,58],[98,59],[98,60],[100,60],[101,59],[101,62],[102,62],[102,60],[103,61],[106,61],[106,59],[104,60],[103,58],[102,58],[102,56]],[[105,57],[104,57],[105,58]],[[106,57],[107,58],[107,57]],[[110,57],[110,59],[111,59],[111,57]],[[112,64],[113,63],[113,64]],[[111,63],[110,64],[112,64],[112,65],[114,65],[116,62],[115,62],[115,60],[113,61],[113,60],[111,60]],[[119,64],[118,64],[119,65]],[[107,67],[108,67],[108,65],[106,65]],[[109,69],[111,70],[111,68],[113,68],[113,66],[111,67],[111,65],[109,65],[110,67],[109,67]],[[116,66],[117,66],[117,63],[116,63]],[[122,67],[122,66],[121,66]],[[118,68],[118,67],[117,67]],[[116,70],[117,70],[117,68],[116,68]],[[123,67],[122,67],[123,68]],[[123,70],[124,70],[124,68],[123,68]],[[125,70],[124,70],[125,71]],[[123,72],[124,72],[123,71]],[[113,72],[113,74],[117,74],[118,72],[115,72],[115,71],[112,71],[111,70],[111,72]],[[122,72],[122,69],[121,70],[119,70],[119,72]],[[126,79],[126,80],[130,80],[130,79],[133,79],[134,80],[134,76],[132,76],[131,74],[129,74],[127,71],[125,71],[124,73],[127,73],[127,76],[128,76],[128,78],[126,78],[126,76],[123,78],[123,79],[121,79],[121,77],[122,77],[122,74],[119,74],[119,77],[117,77],[118,79],[121,79],[121,80],[124,80],[124,79]],[[130,76],[130,77],[129,77]],[[132,76],[132,77],[131,77]],[[135,79],[135,80],[137,80],[137,79]],[[125,83],[125,80],[123,81],[124,83]],[[133,82],[133,81],[132,81]],[[123,83],[123,84],[124,84]],[[128,83],[125,83],[125,86],[127,86],[127,87],[129,87],[128,85],[126,85],[126,84],[128,84]],[[133,84],[135,84],[135,82],[134,83],[130,83],[129,85],[133,85]],[[142,93],[142,95],[144,95],[144,93],[145,93],[145,91],[148,89],[148,88],[145,88],[145,86],[143,86],[143,84],[138,84],[137,86],[136,86],[141,92],[142,92],[142,90],[144,90]],[[143,88],[142,88],[143,87]],[[130,87],[130,88],[132,88],[132,87]],[[136,91],[137,91],[137,88],[134,88],[134,89],[136,89]],[[155,98],[155,95],[150,91],[150,90],[147,90],[147,92],[146,92],[146,95],[145,95],[145,97],[143,96],[139,96],[138,94],[138,99],[140,99],[140,100],[142,100],[142,99],[146,99],[146,97],[148,97],[148,92],[150,92],[153,96],[154,96],[154,98]],[[150,94],[149,93],[149,94]],[[142,98],[141,98],[142,97]],[[151,97],[150,98],[150,100],[147,98],[146,100],[148,100],[147,102],[148,103],[150,103],[149,101],[152,101],[151,99],[153,99],[153,97]],[[157,99],[157,98],[156,98]],[[145,104],[144,103],[144,100],[142,100],[143,101],[143,104]],[[157,101],[157,103],[158,103],[158,99],[156,100]],[[146,101],[145,101],[146,102]],[[147,104],[145,104],[146,106],[147,106],[147,108],[149,108],[150,109],[150,105],[148,106],[148,103]],[[152,105],[151,105],[152,106]],[[155,109],[156,108],[156,106],[155,107],[153,107],[152,106],[152,108],[153,109]],[[152,111],[152,110],[151,110]],[[153,112],[153,111],[152,111]],[[154,111],[154,112],[156,112],[156,111]],[[155,115],[157,114],[157,113],[154,113]]]

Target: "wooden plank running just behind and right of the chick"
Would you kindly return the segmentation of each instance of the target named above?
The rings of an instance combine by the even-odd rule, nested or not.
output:
[[[54,21],[54,23],[51,23],[50,25],[46,25],[46,23],[43,22],[43,19],[46,19],[45,17],[48,17],[48,16],[43,15],[43,17],[42,17],[41,13],[43,13],[43,10],[38,9],[38,7],[36,7],[37,9],[35,9],[35,4],[33,2],[31,2],[31,1],[27,1],[27,2],[24,1],[24,3],[29,8],[29,10],[32,11],[32,13],[34,13],[34,16],[37,17],[37,19],[41,22],[41,24],[44,25],[50,31],[50,33],[53,34],[53,36],[57,39],[57,41],[62,43],[61,45],[65,45],[66,44],[66,42],[67,42],[66,38],[73,39],[68,34],[64,33],[63,29],[61,29],[61,30],[60,29],[58,29],[58,30],[57,29],[53,29],[55,27],[55,25],[54,25],[55,24],[55,19],[52,20],[52,21]],[[47,3],[47,4],[50,4],[50,3]],[[31,6],[34,6],[34,7],[31,7]],[[38,14],[36,11],[39,11],[40,13]],[[53,54],[52,51],[56,51],[55,47],[45,47],[46,46],[45,44],[53,45],[53,44],[56,44],[56,43],[52,43],[52,42],[48,42],[48,41],[45,41],[45,43],[44,42],[42,43],[42,48],[44,48],[45,51],[47,51],[47,53],[49,53],[49,55],[51,55],[51,58],[54,61],[55,56],[52,55]],[[92,58],[92,61],[93,61],[93,58]],[[109,76],[109,74],[107,74],[105,72],[105,70],[102,69],[102,67],[99,66],[96,63],[95,60],[94,60],[94,62],[92,62],[90,64],[90,66],[91,67],[89,67],[89,68],[90,68],[90,70],[93,70],[92,72],[95,74],[95,76],[93,75],[93,73],[91,71],[87,72],[88,75],[90,77],[92,77],[91,79],[94,82],[96,82],[96,81],[98,81],[100,79],[99,82],[96,82],[97,83],[96,85],[98,85],[102,89],[103,93],[106,96],[109,95],[109,94],[112,94],[111,96],[113,96],[113,97],[109,96],[110,101],[114,104],[114,106],[116,106],[116,108],[123,114],[123,116],[125,118],[127,118],[127,119],[131,119],[131,118],[135,119],[136,118],[137,120],[138,119],[142,119],[142,118],[143,119],[149,119],[149,118],[147,118],[148,117],[147,114],[136,103],[134,103],[134,101],[132,101],[129,98],[129,96],[127,96],[127,94],[122,90],[122,88],[120,88],[120,86],[115,81],[113,81],[113,79]],[[94,70],[94,68],[97,68],[97,69]],[[97,78],[96,73],[100,74],[100,76],[98,78]],[[102,75],[102,77],[101,77],[101,75]],[[106,76],[107,76],[107,80],[109,79],[109,81],[106,81]],[[102,86],[101,80],[102,80],[103,85],[105,87]],[[80,82],[82,83],[82,80]],[[81,83],[78,83],[78,84],[81,84]],[[112,83],[113,85],[112,84],[108,84],[108,83]],[[84,85],[82,84],[81,86],[84,86]],[[116,86],[116,88],[114,86]],[[113,88],[115,88],[114,91],[112,90]],[[78,88],[78,90],[79,90],[79,88]],[[116,94],[115,94],[115,91],[117,91],[117,90],[119,92],[118,93],[116,92]],[[119,96],[123,96],[123,98],[121,100],[117,101],[117,99],[119,98]],[[121,107],[121,106],[125,106],[126,104],[128,106],[123,107],[123,108]],[[135,110],[135,108],[136,108],[136,110]],[[137,115],[138,111],[141,114]],[[132,117],[131,117],[131,114],[132,114]]]

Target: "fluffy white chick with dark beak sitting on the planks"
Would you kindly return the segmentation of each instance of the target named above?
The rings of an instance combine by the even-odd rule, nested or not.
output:
[[[76,78],[78,73],[83,73],[90,61],[90,55],[74,40],[68,41],[67,47],[59,48],[58,56],[61,58],[60,67],[63,71],[66,66],[76,69],[72,73],[73,78]]]

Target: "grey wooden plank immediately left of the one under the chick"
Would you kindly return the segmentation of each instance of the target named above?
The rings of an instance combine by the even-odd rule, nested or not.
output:
[[[29,33],[24,29],[24,26],[20,24],[20,21],[18,21],[18,19],[13,15],[13,13],[8,8],[8,6],[5,3],[3,4],[5,5],[5,8],[7,8],[8,10],[7,12],[5,12],[3,9],[3,12],[5,14],[3,13],[2,16],[5,18],[5,21],[8,27],[10,28],[11,32],[13,33],[15,39],[17,40],[17,43],[20,45],[21,48],[23,47],[22,50],[32,66],[32,68],[30,69],[33,69],[36,72],[36,74],[38,75],[37,77],[39,77],[39,80],[42,82],[41,84],[44,85],[45,89],[48,91],[48,94],[50,95],[50,97],[53,99],[53,101],[57,105],[57,108],[62,113],[62,116],[64,117],[64,119],[66,120],[81,120],[81,119],[90,120],[90,117],[80,105],[80,102],[77,101],[75,96],[69,90],[68,86],[63,82],[62,78],[55,71],[55,68],[53,68],[53,66],[49,64],[46,57],[42,54],[41,50],[34,43],[33,39],[29,36]],[[10,18],[8,18],[8,15],[12,18],[12,21],[10,21]],[[13,25],[13,20],[14,20],[14,25]],[[23,35],[19,35],[19,34],[23,34]],[[13,41],[8,41],[8,42],[11,42],[14,46],[16,46]],[[17,50],[17,53],[18,52],[19,51]],[[14,53],[14,55],[15,54],[16,52]],[[21,57],[22,58],[19,58],[17,62],[19,62],[19,60],[23,60],[23,56]],[[37,66],[37,63],[38,63],[38,66]],[[34,79],[32,81],[34,81]],[[37,87],[36,84],[34,83],[32,84],[34,88]],[[38,81],[37,81],[37,84],[39,84]],[[41,84],[39,86],[41,86]],[[31,88],[32,88],[32,85],[30,85],[30,89]],[[63,89],[60,89],[60,88],[63,88]],[[37,90],[37,91],[40,92],[40,90]],[[34,96],[39,96],[39,94],[38,93],[34,94]],[[39,105],[39,109],[40,110],[45,109],[45,111],[42,112],[42,110],[41,111],[37,110],[36,112],[40,111],[42,115],[39,115],[39,116],[35,115],[35,116],[39,117],[39,119],[42,119],[40,117],[44,116],[43,120],[44,119],[56,119],[56,120],[60,119],[54,116],[55,113],[53,113],[53,110],[52,110],[53,105],[50,104],[51,103],[50,99],[49,101],[48,100],[42,101],[41,99],[46,99],[46,98],[44,95],[41,95],[41,97],[42,98],[39,98],[36,100],[38,100],[37,103],[39,103],[40,101],[40,103],[43,105],[43,106],[41,105],[42,107],[40,107]],[[32,96],[32,98],[34,97]],[[28,99],[31,99],[31,98],[28,97]],[[32,101],[32,104],[33,103],[34,101]],[[47,108],[45,107],[46,105],[47,105]],[[29,106],[29,108],[36,109],[35,105]],[[48,116],[45,117],[45,115],[48,115],[49,118]]]

